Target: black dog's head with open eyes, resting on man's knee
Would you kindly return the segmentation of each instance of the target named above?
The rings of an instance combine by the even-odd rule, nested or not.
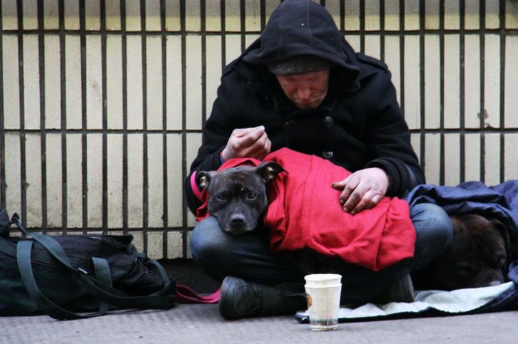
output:
[[[238,166],[226,170],[201,171],[196,175],[199,187],[209,197],[208,214],[231,234],[253,231],[268,207],[267,184],[285,170],[277,162],[262,162],[258,167]]]

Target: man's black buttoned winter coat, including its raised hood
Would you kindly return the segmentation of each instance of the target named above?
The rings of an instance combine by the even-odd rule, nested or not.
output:
[[[296,108],[265,67],[301,54],[335,63],[318,108]],[[390,179],[387,196],[401,197],[425,182],[387,66],[355,53],[327,10],[313,1],[283,1],[260,38],[223,70],[191,174],[217,170],[231,132],[258,125],[265,126],[272,151],[290,147],[351,172],[381,167]],[[189,209],[195,212],[201,203],[191,189],[191,174],[185,189]]]

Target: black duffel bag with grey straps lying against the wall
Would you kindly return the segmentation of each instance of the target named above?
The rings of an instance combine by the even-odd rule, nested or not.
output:
[[[11,236],[15,224],[23,236]],[[115,309],[169,309],[176,285],[131,235],[31,233],[0,209],[0,316],[64,320]]]

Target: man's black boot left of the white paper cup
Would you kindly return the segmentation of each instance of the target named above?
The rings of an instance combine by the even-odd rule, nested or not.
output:
[[[263,286],[227,276],[221,284],[219,313],[226,319],[280,316],[307,309],[302,283]]]

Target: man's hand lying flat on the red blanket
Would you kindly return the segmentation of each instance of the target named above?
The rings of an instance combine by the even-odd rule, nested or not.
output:
[[[339,202],[344,212],[354,215],[381,201],[388,189],[388,176],[379,167],[366,168],[354,172],[342,182],[333,183],[332,187],[342,190]]]

